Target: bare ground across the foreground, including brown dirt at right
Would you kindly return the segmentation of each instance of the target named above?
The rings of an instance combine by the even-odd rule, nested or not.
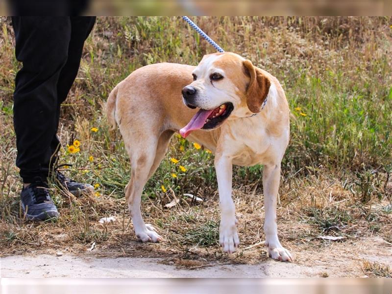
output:
[[[229,259],[183,267],[171,258],[97,257],[105,253],[99,249],[95,255],[62,253],[2,257],[1,277],[366,277],[371,275],[364,271],[364,261],[392,264],[392,245],[378,237],[331,242],[314,250],[297,247],[293,263],[236,264]]]

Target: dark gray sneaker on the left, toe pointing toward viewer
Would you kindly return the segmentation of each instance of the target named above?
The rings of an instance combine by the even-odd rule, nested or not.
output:
[[[46,221],[58,218],[59,213],[50,198],[48,185],[36,178],[21,192],[21,202],[26,219],[31,221]]]

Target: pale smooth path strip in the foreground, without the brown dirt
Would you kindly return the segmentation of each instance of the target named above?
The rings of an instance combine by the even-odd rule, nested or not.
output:
[[[323,267],[268,261],[257,265],[215,265],[195,270],[177,269],[159,258],[96,258],[64,254],[15,255],[0,259],[1,277],[311,277]]]

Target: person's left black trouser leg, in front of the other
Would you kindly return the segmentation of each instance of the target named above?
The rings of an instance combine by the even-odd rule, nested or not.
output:
[[[15,54],[23,68],[14,92],[16,165],[24,182],[46,178],[56,133],[57,82],[68,59],[69,17],[13,17]]]

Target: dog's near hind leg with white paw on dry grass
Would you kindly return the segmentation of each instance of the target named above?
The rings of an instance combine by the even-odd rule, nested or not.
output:
[[[143,146],[127,147],[131,159],[131,179],[125,188],[125,198],[128,202],[130,217],[136,237],[142,242],[158,242],[162,239],[155,229],[143,221],[140,210],[142,191],[149,178],[149,172],[154,163],[157,142],[144,142]]]

